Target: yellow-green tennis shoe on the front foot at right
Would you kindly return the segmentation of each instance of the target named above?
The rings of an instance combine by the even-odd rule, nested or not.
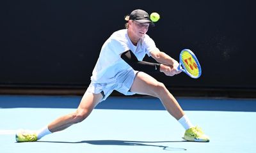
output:
[[[202,129],[197,126],[187,129],[183,139],[189,142],[210,142],[209,136],[205,135]]]

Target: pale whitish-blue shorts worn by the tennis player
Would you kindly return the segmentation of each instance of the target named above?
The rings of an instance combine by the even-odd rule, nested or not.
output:
[[[86,92],[92,92],[93,94],[99,94],[101,92],[103,95],[102,101],[106,100],[114,90],[124,95],[135,94],[134,92],[131,92],[130,89],[137,73],[138,71],[131,69],[130,71],[127,71],[127,73],[118,76],[115,82],[103,84],[91,82]]]

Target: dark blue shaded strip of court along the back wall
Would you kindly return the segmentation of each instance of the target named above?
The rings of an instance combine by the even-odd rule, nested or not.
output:
[[[81,96],[0,96],[0,108],[77,108]],[[256,112],[255,99],[177,98],[184,110]],[[96,109],[164,110],[150,97],[109,97]]]

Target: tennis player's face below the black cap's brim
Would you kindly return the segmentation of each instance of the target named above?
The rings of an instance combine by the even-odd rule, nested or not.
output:
[[[131,21],[131,30],[133,34],[138,37],[142,38],[148,31],[149,23],[139,23],[135,20]]]

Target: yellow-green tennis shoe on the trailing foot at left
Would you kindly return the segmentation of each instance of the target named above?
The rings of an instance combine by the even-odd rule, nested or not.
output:
[[[37,140],[37,135],[33,131],[20,130],[16,133],[16,142],[35,142]]]

